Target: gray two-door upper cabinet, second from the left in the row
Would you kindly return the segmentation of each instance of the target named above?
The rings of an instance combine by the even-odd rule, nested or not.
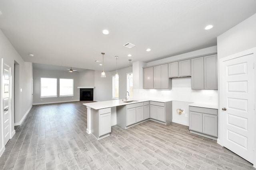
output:
[[[168,89],[168,64],[154,66],[154,89]]]

